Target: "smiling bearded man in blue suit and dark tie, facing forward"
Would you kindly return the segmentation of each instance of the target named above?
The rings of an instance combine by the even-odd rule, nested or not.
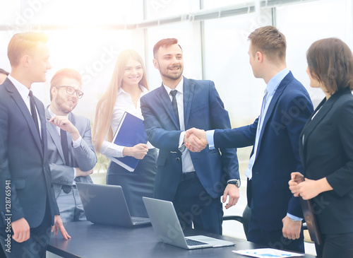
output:
[[[228,112],[212,81],[182,76],[183,52],[176,39],[157,42],[153,64],[162,86],[141,98],[148,141],[160,149],[155,197],[173,201],[182,227],[222,234],[222,203],[239,199],[239,170],[234,148],[190,153],[185,129],[230,128]],[[176,91],[174,91],[176,90]],[[221,154],[221,153],[222,154]]]

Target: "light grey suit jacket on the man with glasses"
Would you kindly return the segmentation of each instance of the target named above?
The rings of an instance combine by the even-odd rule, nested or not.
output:
[[[45,113],[47,117],[51,117],[48,110],[45,110]],[[90,119],[69,113],[68,120],[78,129],[82,137],[80,146],[73,148],[71,134],[67,133],[69,165],[65,165],[61,139],[58,131],[56,131],[56,127],[54,124],[47,122],[48,156],[55,197],[58,197],[61,187],[64,184],[72,185],[73,180],[76,182],[93,183],[89,175],[74,178],[73,168],[88,171],[94,168],[95,163],[97,163],[95,148],[92,145]]]

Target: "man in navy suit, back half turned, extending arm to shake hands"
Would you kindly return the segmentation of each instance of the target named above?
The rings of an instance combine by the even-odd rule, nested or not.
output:
[[[292,171],[303,170],[299,158],[299,134],[313,111],[304,86],[287,69],[285,35],[273,26],[249,35],[253,74],[263,78],[265,89],[261,115],[245,127],[198,131],[201,141],[186,146],[199,151],[204,143],[217,148],[254,146],[246,176],[251,206],[248,240],[270,247],[304,252],[299,199],[288,189]],[[196,139],[196,138],[193,138]]]

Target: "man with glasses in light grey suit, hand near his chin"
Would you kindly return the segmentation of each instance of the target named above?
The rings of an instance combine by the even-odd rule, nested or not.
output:
[[[45,111],[49,165],[63,222],[85,221],[76,182],[93,183],[90,174],[97,163],[90,120],[71,113],[83,96],[81,85],[78,71],[57,71],[50,82],[51,104]]]

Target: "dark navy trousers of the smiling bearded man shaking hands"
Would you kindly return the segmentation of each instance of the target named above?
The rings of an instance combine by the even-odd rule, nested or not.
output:
[[[197,230],[222,235],[220,198],[210,197],[198,177],[179,182],[173,204],[183,230],[193,223]]]

